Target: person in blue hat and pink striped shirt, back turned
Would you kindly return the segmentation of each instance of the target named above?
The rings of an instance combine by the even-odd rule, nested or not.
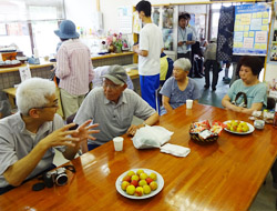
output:
[[[54,31],[62,40],[57,53],[55,76],[60,79],[61,100],[64,117],[75,113],[81,105],[93,79],[90,49],[79,40],[75,24],[64,20]]]

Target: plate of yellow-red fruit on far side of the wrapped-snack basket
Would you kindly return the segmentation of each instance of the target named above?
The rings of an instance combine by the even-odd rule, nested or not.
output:
[[[255,130],[250,123],[240,120],[228,120],[223,123],[226,124],[224,130],[235,134],[249,134]]]

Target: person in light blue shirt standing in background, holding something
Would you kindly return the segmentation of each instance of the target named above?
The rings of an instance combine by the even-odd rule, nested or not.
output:
[[[178,17],[178,48],[177,59],[187,58],[192,62],[192,44],[195,43],[195,34],[191,28],[187,27],[188,20],[185,14]]]

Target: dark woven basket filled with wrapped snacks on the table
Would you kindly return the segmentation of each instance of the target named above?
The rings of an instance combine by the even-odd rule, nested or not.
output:
[[[223,130],[223,124],[215,121],[212,127],[207,120],[194,122],[189,127],[191,139],[198,144],[211,144],[217,141]]]

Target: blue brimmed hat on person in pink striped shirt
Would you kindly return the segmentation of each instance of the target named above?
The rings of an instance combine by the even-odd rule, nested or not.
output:
[[[79,38],[76,27],[71,20],[63,20],[60,24],[60,29],[55,30],[54,33],[61,39]]]

